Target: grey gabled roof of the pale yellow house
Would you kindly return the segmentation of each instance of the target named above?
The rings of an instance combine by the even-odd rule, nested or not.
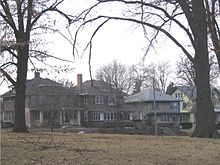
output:
[[[168,94],[172,94],[174,91],[176,91],[177,89],[179,89],[181,92],[183,92],[186,96],[188,96],[191,99],[196,99],[196,87],[193,86],[187,86],[187,85],[183,85],[183,86],[175,86],[173,87]]]

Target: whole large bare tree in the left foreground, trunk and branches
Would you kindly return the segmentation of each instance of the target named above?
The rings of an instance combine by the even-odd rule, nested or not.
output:
[[[15,132],[27,132],[25,124],[25,83],[28,70],[28,59],[32,35],[39,34],[39,29],[45,29],[51,23],[49,12],[56,12],[70,21],[69,17],[58,9],[64,0],[40,1],[40,0],[0,0],[0,25],[1,35],[1,58],[4,55],[11,57],[0,66],[1,73],[15,86]],[[11,35],[9,35],[11,34]],[[39,53],[36,56],[39,56]],[[42,54],[41,54],[42,55]],[[6,68],[14,65],[16,79],[6,71]]]

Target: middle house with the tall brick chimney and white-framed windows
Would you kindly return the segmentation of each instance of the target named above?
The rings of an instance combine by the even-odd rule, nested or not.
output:
[[[116,89],[101,80],[88,80],[82,83],[81,75],[77,78],[77,87],[84,105],[84,123],[86,127],[116,127],[123,96],[116,96]],[[120,92],[120,91],[118,91]]]

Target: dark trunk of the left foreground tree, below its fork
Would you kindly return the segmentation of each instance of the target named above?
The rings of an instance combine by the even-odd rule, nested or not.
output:
[[[24,42],[23,42],[24,43]],[[25,89],[27,78],[28,52],[29,47],[18,46],[18,62],[17,62],[17,83],[15,96],[15,124],[14,132],[28,132],[25,123]]]

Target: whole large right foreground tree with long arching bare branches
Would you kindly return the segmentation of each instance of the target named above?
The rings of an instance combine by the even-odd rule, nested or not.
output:
[[[121,3],[124,11],[121,15],[95,15],[88,17],[89,12],[97,6],[108,3]],[[106,6],[105,6],[106,7]],[[159,34],[164,34],[173,41],[193,63],[195,68],[195,85],[197,88],[196,100],[196,128],[192,136],[195,137],[215,137],[217,130],[215,126],[214,107],[211,102],[210,79],[209,79],[209,53],[208,53],[208,31],[207,31],[207,12],[204,1],[185,1],[185,0],[98,0],[97,4],[89,10],[80,14],[84,22],[79,29],[88,23],[102,21],[94,31],[88,42],[88,48],[92,49],[92,41],[98,30],[106,23],[112,20],[129,21],[141,25],[144,34],[153,29],[153,35],[149,39],[151,46]],[[186,36],[186,41],[182,42],[175,33],[172,33],[172,27],[178,28],[178,33]],[[147,29],[148,28],[148,29]],[[77,38],[79,30],[76,32]],[[185,45],[184,43],[187,44]],[[74,44],[75,45],[75,44]],[[189,47],[190,46],[190,47]]]

